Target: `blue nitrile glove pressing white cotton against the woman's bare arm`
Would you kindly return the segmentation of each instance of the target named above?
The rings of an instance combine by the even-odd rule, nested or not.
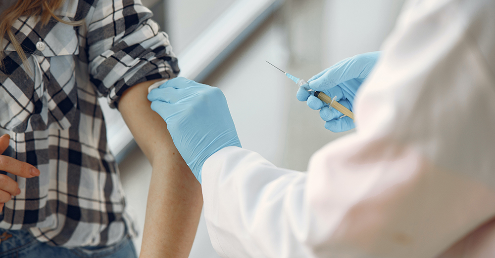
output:
[[[241,147],[227,100],[219,88],[178,77],[148,94],[175,146],[201,183],[204,161],[218,150]]]

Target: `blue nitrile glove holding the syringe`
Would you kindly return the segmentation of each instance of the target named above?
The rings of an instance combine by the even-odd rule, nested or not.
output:
[[[330,109],[307,90],[322,91],[330,98],[337,96],[337,101],[352,111],[354,96],[375,66],[381,52],[370,52],[356,55],[340,61],[332,67],[314,75],[297,91],[299,101],[307,101],[313,110],[320,110],[320,117],[325,120],[325,128],[332,132],[344,132],[355,127],[354,121],[336,109]]]

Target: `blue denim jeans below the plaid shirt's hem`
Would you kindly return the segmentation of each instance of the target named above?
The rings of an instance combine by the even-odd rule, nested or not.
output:
[[[0,258],[137,258],[131,238],[109,247],[52,247],[36,240],[27,230],[0,229]],[[11,235],[11,236],[10,236]],[[6,239],[5,239],[6,238]],[[5,240],[3,240],[5,239]]]

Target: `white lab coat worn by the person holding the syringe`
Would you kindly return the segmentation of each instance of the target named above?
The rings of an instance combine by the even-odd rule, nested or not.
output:
[[[495,1],[414,0],[307,173],[227,147],[202,168],[228,258],[495,257]]]

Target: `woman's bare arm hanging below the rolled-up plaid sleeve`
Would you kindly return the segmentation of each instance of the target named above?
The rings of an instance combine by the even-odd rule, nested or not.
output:
[[[166,123],[150,109],[152,81],[128,89],[119,102],[134,139],[153,172],[141,257],[188,257],[201,213],[201,186],[172,142]]]

